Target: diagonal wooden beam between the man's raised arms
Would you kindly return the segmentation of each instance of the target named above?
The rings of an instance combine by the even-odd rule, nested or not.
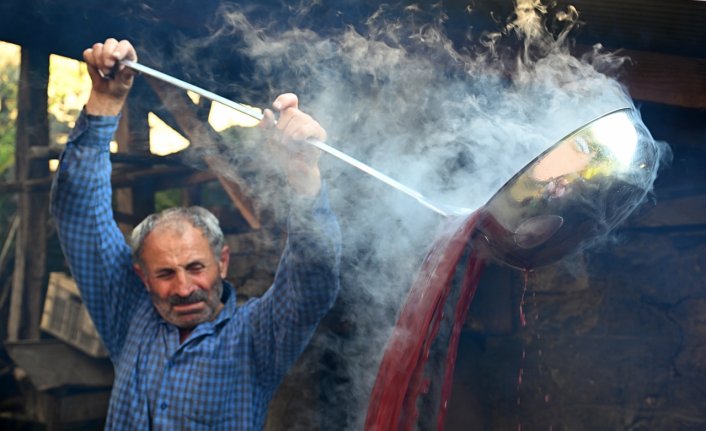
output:
[[[198,110],[184,92],[150,77],[145,78],[164,106],[172,113],[179,127],[187,134],[192,146],[213,149],[222,146],[216,131],[199,118]],[[251,199],[243,190],[245,181],[217,156],[207,155],[204,161],[216,173],[223,189],[250,227],[259,229],[262,224]]]

